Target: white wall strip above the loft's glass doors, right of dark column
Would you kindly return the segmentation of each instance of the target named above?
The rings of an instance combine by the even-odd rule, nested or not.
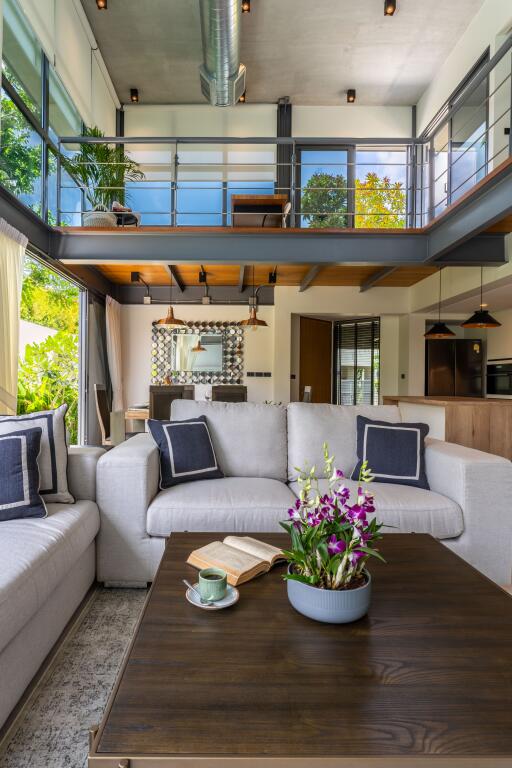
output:
[[[302,138],[409,138],[412,136],[411,107],[339,107],[293,105],[292,135]]]

